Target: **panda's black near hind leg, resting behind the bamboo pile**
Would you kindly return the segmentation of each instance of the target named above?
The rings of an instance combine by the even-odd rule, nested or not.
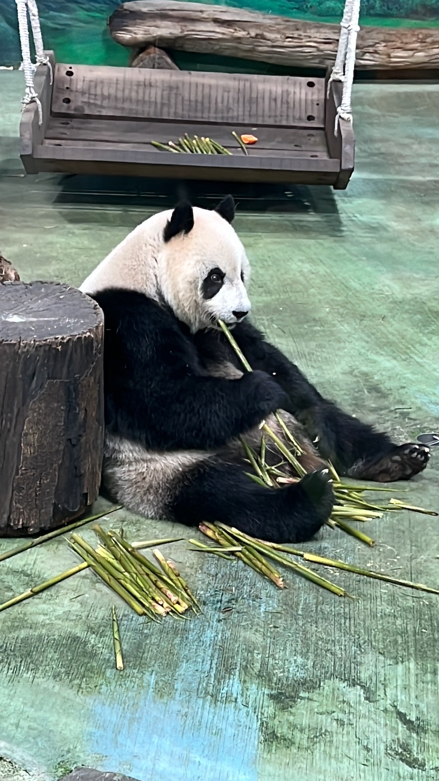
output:
[[[334,494],[327,469],[273,489],[244,474],[245,467],[210,462],[187,473],[174,496],[173,517],[188,526],[223,522],[269,542],[304,542],[330,516]]]

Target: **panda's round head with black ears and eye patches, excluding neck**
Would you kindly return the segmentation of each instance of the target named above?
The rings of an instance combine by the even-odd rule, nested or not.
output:
[[[239,323],[250,311],[247,255],[231,223],[231,195],[213,211],[182,202],[163,230],[159,285],[163,298],[192,332]]]

